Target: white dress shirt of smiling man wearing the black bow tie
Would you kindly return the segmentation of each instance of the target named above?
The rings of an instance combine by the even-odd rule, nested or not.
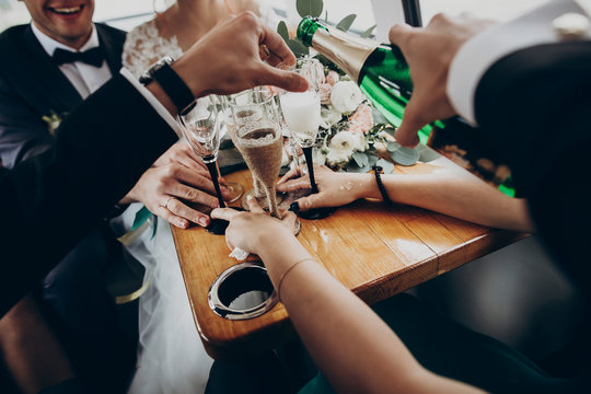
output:
[[[31,23],[31,27],[33,28],[33,34],[35,34],[35,37],[39,40],[42,47],[49,56],[54,56],[54,51],[56,50],[56,48],[61,48],[69,51],[84,51],[95,48],[100,45],[99,34],[96,33],[94,24],[92,25],[92,34],[89,40],[79,50],[76,50],[67,45],[58,43],[54,38],[48,37],[44,33],[42,33],[33,22]],[[78,93],[80,93],[82,99],[86,99],[90,94],[94,93],[112,77],[106,60],[103,60],[101,67],[86,65],[82,61],[74,61],[71,63],[60,65],[59,69],[72,83],[72,85],[76,88]]]

